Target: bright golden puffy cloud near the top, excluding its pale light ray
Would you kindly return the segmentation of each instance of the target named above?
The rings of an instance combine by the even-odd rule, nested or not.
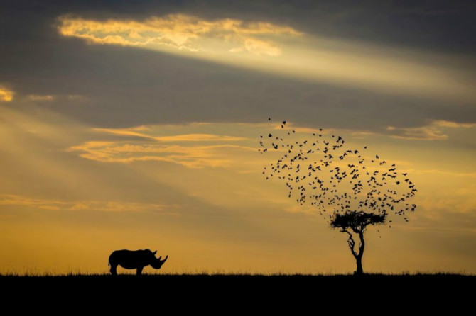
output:
[[[151,17],[144,21],[94,21],[62,16],[60,34],[94,44],[113,44],[189,52],[239,52],[277,56],[280,48],[263,36],[299,35],[293,28],[272,23],[247,23],[237,19],[205,20],[184,14]]]

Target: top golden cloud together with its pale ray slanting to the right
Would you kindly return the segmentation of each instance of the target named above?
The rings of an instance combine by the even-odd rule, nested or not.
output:
[[[304,81],[391,94],[476,101],[474,74],[452,55],[317,38],[288,26],[183,14],[142,21],[61,16],[58,31],[90,44],[159,50]]]

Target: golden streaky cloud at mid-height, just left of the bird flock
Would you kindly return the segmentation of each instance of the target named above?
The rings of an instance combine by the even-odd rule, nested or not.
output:
[[[212,133],[188,133],[188,130],[215,129],[217,125],[195,123],[191,125],[155,125],[136,128],[94,128],[99,135],[114,135],[128,140],[87,141],[71,146],[68,152],[79,152],[80,157],[97,162],[171,162],[189,168],[229,167],[236,152],[253,152],[244,145],[247,137]],[[219,125],[218,125],[219,126]],[[175,135],[161,133],[182,132]],[[237,142],[240,142],[237,144]],[[200,145],[197,145],[200,143]]]

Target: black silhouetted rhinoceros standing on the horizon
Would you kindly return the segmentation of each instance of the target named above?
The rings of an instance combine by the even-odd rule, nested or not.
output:
[[[149,249],[144,250],[116,250],[109,256],[109,266],[113,276],[117,275],[117,266],[121,266],[124,269],[137,269],[137,275],[140,276],[144,266],[151,266],[153,269],[161,269],[164,262],[167,261],[168,255],[165,259],[162,256],[156,258],[155,252],[151,252]]]

